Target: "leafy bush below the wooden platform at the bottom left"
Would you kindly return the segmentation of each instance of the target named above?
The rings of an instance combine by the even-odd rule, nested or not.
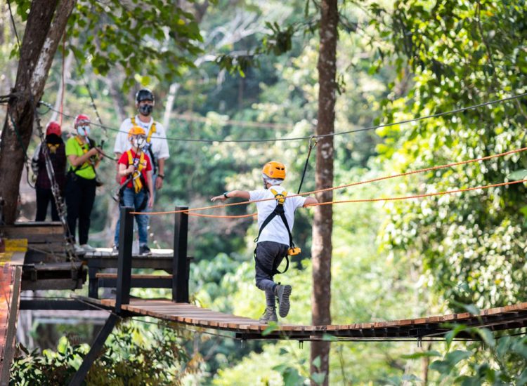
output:
[[[179,385],[200,366],[200,355],[183,346],[189,338],[188,331],[177,326],[152,326],[138,321],[119,324],[108,339],[108,348],[89,371],[86,384]],[[54,386],[67,385],[89,347],[72,345],[63,337],[56,352],[30,352],[23,346],[18,350],[10,385]]]

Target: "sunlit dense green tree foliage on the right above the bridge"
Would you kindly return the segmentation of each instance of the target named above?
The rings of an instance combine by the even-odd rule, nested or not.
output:
[[[381,9],[379,29],[393,40],[398,88],[384,101],[385,121],[445,112],[525,91],[527,14],[523,1],[405,1]],[[412,126],[391,126],[380,159],[406,171],[519,149],[524,98],[471,109]],[[390,194],[441,192],[504,182],[523,168],[512,154],[409,178]],[[386,163],[388,164],[388,163]],[[405,201],[387,206],[384,242],[415,257],[429,282],[455,309],[525,300],[526,244],[521,185]],[[400,253],[397,253],[400,254]],[[431,280],[431,281],[429,281]]]

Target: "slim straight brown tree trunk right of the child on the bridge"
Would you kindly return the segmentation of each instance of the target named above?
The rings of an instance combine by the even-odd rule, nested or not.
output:
[[[337,0],[320,2],[320,54],[318,57],[318,123],[317,135],[333,133],[337,97]],[[316,189],[333,185],[333,137],[320,138],[317,146]],[[332,191],[317,194],[319,202],[332,201]],[[331,255],[333,208],[316,206],[313,220],[313,293],[311,317],[313,325],[331,324]],[[320,366],[318,365],[320,361]],[[323,373],[323,385],[329,385],[330,342],[311,343],[311,385],[313,375]]]

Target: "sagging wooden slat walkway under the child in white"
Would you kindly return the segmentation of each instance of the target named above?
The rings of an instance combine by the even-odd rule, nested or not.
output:
[[[115,307],[115,300],[93,300],[90,302],[111,309]],[[123,305],[122,309],[132,314],[155,317],[168,321],[175,321],[189,326],[221,331],[231,331],[240,339],[293,339],[293,340],[401,340],[401,339],[430,339],[443,338],[450,331],[445,324],[465,324],[467,326],[486,327],[492,331],[527,326],[527,302],[507,307],[483,310],[479,315],[468,312],[449,314],[419,319],[405,319],[397,321],[378,321],[358,324],[330,325],[330,326],[298,326],[280,324],[273,331],[268,325],[245,317],[223,314],[206,308],[196,307],[188,303],[175,303],[170,300],[142,300],[132,299],[131,304]],[[271,330],[271,329],[268,329]],[[459,338],[471,339],[467,335]]]

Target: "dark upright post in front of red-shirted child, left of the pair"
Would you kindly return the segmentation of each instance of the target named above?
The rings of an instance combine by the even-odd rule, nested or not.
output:
[[[121,208],[121,228],[119,229],[119,258],[117,260],[117,294],[115,312],[119,314],[122,305],[130,302],[131,250],[134,241],[134,208]]]

